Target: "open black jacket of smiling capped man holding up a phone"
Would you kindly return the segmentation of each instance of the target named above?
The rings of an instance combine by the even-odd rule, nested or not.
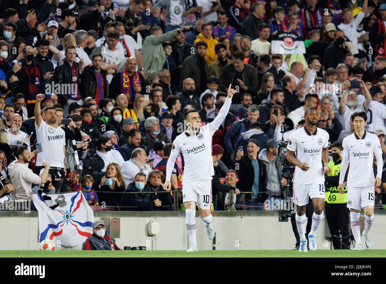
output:
[[[259,170],[259,175],[260,175],[260,177],[259,177],[259,192],[262,192],[263,191],[262,190],[262,184],[265,184],[265,182],[263,180],[263,176],[262,176],[263,171],[261,170],[262,169],[262,163],[259,159],[257,159],[257,161],[259,161],[259,168],[260,168],[260,170]],[[237,170],[239,172],[239,181],[237,182],[237,187],[240,188],[240,191],[252,191],[252,187],[253,187],[253,184],[255,182],[255,171],[254,171],[254,168],[252,166],[251,159],[248,156],[245,156],[237,162],[239,162],[238,163],[239,168]],[[264,202],[266,200],[266,196],[267,196],[266,193],[261,193],[261,194],[259,194],[259,198],[257,200],[260,202]],[[245,193],[245,199],[252,199],[252,194],[251,193]]]

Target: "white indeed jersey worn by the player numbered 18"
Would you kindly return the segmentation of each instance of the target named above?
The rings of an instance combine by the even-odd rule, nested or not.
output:
[[[296,158],[302,163],[308,163],[308,171],[295,168],[293,182],[298,184],[324,183],[322,150],[328,147],[330,135],[322,128],[316,128],[313,134],[305,127],[294,131],[288,140],[287,149],[294,151]]]

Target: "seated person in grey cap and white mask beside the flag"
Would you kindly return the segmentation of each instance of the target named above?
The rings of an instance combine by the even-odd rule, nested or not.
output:
[[[93,234],[83,243],[82,250],[121,250],[115,240],[105,234],[106,226],[103,220],[93,222]]]

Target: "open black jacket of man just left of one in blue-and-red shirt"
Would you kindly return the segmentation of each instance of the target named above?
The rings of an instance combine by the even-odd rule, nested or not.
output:
[[[75,66],[75,70],[78,77],[78,87],[80,86],[80,68],[79,64],[74,62],[73,65]],[[72,84],[72,73],[71,73],[71,66],[69,65],[67,60],[62,61],[59,63],[58,66],[55,68],[55,75],[54,80],[55,84]],[[58,102],[62,105],[66,105],[67,101],[69,99],[68,92],[63,92],[63,94],[57,94],[59,99]]]

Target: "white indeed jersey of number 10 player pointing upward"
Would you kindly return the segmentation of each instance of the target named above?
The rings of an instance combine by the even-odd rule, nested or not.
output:
[[[212,179],[214,175],[212,136],[227,116],[230,104],[232,104],[232,98],[227,97],[218,116],[212,122],[202,126],[194,136],[184,132],[174,139],[166,165],[166,180],[170,180],[174,161],[180,151],[185,161],[183,181]]]

